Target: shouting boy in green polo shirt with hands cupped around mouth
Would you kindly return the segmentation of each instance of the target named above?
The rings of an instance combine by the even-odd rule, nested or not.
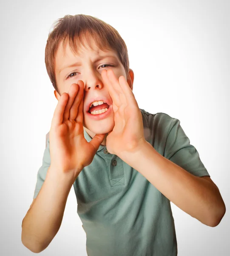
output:
[[[215,227],[218,187],[178,119],[139,109],[125,42],[102,20],[66,15],[45,48],[58,100],[22,242],[39,253],[57,234],[71,186],[88,256],[176,256],[170,201]]]

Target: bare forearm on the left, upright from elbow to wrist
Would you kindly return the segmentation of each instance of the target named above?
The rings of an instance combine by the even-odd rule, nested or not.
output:
[[[33,252],[44,250],[57,234],[73,180],[49,167],[45,181],[22,224],[22,242]]]

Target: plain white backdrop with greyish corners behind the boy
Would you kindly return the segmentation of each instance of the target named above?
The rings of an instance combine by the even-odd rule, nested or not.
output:
[[[92,15],[118,30],[128,47],[139,108],[179,119],[219,187],[227,212],[217,227],[172,204],[178,255],[230,255],[229,13],[228,0],[1,1],[0,255],[33,255],[21,242],[21,224],[57,105],[45,44],[54,21],[67,14]],[[60,230],[40,254],[86,256],[81,225],[72,187]]]

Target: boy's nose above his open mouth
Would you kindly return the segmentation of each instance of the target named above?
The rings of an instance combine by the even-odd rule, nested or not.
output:
[[[88,90],[100,90],[103,87],[102,79],[100,73],[95,70],[94,68],[91,68],[88,70],[88,72],[85,73],[86,78],[84,79],[85,82],[85,91]]]

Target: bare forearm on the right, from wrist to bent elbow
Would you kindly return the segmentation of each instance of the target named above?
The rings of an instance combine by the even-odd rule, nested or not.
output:
[[[130,165],[176,206],[206,225],[221,216],[219,189],[159,154],[149,143],[129,156]]]

